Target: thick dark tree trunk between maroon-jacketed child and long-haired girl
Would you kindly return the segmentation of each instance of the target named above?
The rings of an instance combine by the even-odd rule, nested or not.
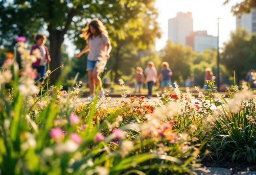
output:
[[[53,71],[54,69],[61,66],[61,44],[64,41],[64,35],[62,35],[61,31],[52,29],[51,26],[48,26],[49,31],[49,40],[50,40],[50,56],[51,56],[51,64],[50,64],[50,70]],[[51,74],[50,81],[52,84],[54,84],[59,75],[61,74],[61,68],[54,71],[54,73]]]

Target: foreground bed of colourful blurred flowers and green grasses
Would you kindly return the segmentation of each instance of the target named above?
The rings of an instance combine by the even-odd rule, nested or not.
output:
[[[255,98],[245,84],[228,89],[229,102],[214,82],[207,96],[195,88],[197,102],[177,84],[157,103],[128,92],[81,102],[82,82],[68,92],[35,86],[34,55],[18,44],[23,71],[11,59],[0,72],[1,174],[193,174],[208,155],[255,162]]]

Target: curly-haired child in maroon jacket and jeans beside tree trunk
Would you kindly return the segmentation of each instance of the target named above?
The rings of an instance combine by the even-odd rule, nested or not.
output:
[[[36,77],[35,81],[39,80],[38,86],[43,82],[43,77],[46,72],[46,63],[51,61],[51,57],[49,55],[48,48],[44,45],[46,43],[46,36],[44,34],[38,33],[35,35],[36,44],[34,44],[31,48],[30,54],[35,49],[40,50],[40,57],[37,58],[36,62],[32,64],[33,69],[36,69],[38,76]]]

